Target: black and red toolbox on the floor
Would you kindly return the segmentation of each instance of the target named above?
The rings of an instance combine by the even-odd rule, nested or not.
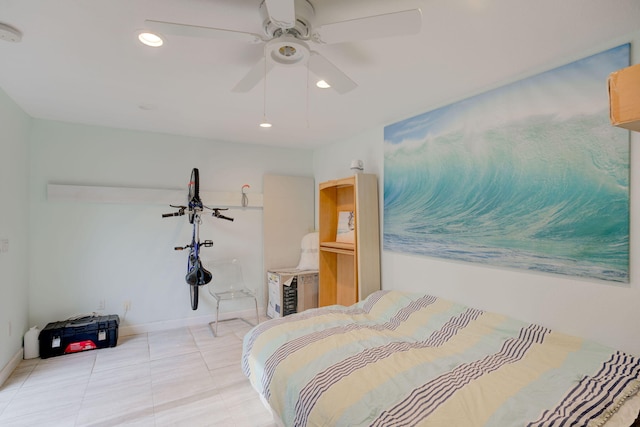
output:
[[[40,357],[46,359],[67,353],[115,347],[118,342],[120,317],[84,316],[48,323],[40,331]]]

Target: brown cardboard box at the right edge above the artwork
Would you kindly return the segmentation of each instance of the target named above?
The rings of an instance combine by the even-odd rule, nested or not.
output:
[[[611,124],[640,132],[640,64],[609,75]]]

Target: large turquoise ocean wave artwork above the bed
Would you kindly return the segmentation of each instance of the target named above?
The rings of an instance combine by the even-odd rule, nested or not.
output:
[[[384,249],[628,282],[629,134],[606,94],[628,55],[385,128]]]

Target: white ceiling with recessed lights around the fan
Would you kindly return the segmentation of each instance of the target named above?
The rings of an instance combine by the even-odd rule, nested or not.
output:
[[[303,66],[264,86],[231,88],[261,44],[186,37],[162,48],[136,39],[145,20],[259,33],[261,0],[0,0],[0,88],[35,118],[314,148],[629,41],[640,0],[311,0],[316,22],[419,7],[416,36],[314,45],[358,83],[307,91]],[[637,62],[637,60],[635,61]],[[606,82],[603,82],[606,87]]]

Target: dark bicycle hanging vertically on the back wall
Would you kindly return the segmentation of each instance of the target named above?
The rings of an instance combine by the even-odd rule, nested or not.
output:
[[[177,212],[162,214],[163,218],[170,216],[182,216],[185,213],[189,216],[189,223],[193,225],[193,233],[191,235],[191,243],[185,246],[176,246],[176,251],[189,249],[189,256],[187,258],[187,274],[185,281],[189,285],[189,294],[191,296],[191,309],[198,309],[198,288],[202,285],[206,285],[211,282],[211,272],[204,268],[200,261],[200,248],[210,248],[213,246],[212,240],[205,240],[200,242],[200,224],[202,223],[201,214],[205,209],[212,211],[212,216],[220,219],[226,219],[227,221],[233,221],[233,218],[229,218],[220,213],[228,208],[210,208],[202,204],[200,200],[200,176],[198,168],[191,170],[191,179],[189,180],[187,196],[187,206],[181,205],[169,205],[172,208],[178,209]]]

